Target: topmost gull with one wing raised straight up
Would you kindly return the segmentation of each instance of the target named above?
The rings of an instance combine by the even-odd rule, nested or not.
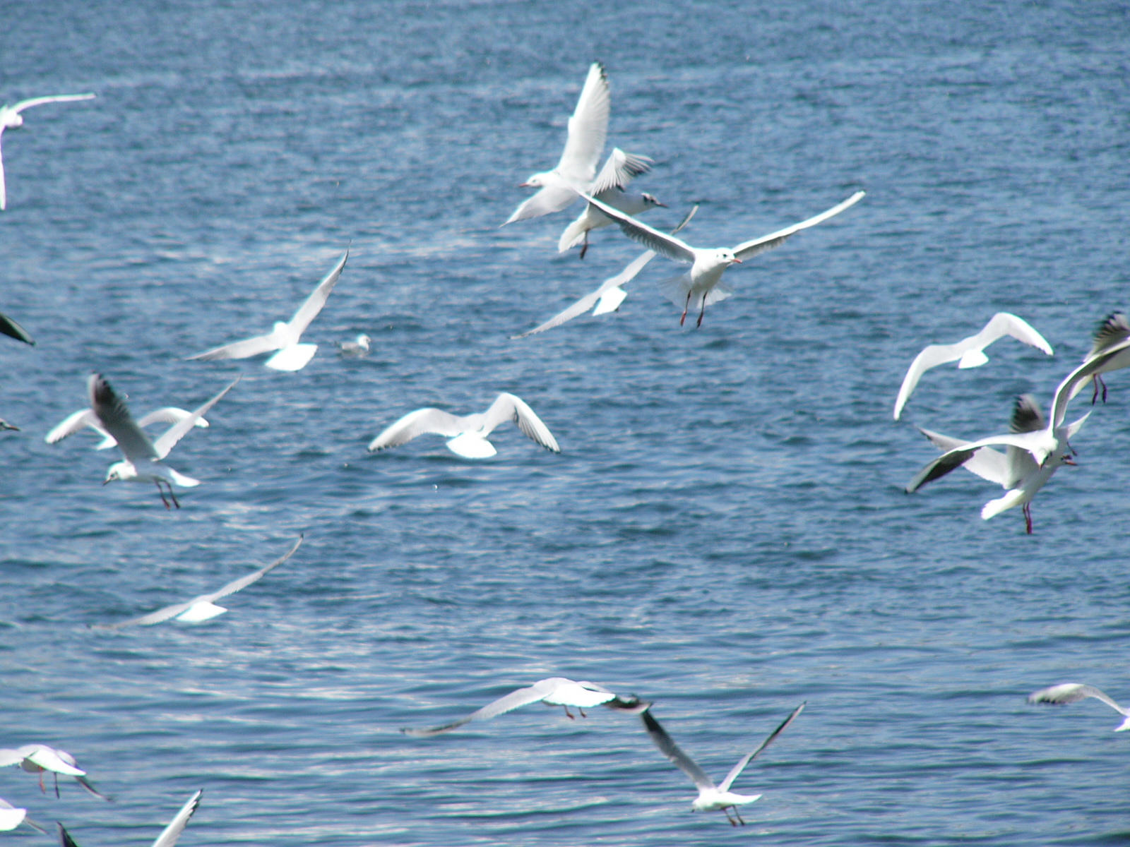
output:
[[[521,184],[523,189],[540,189],[514,210],[506,224],[539,218],[560,211],[577,198],[574,185],[590,185],[597,175],[597,163],[608,137],[611,98],[608,77],[599,62],[589,66],[589,76],[581,89],[573,116],[568,119],[568,138],[560,161],[553,171],[533,174]],[[617,180],[618,184],[620,181]],[[605,185],[605,189],[611,185]],[[506,226],[503,224],[503,226]]]

